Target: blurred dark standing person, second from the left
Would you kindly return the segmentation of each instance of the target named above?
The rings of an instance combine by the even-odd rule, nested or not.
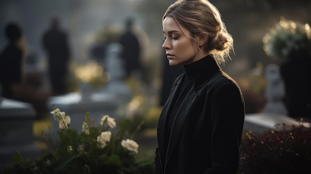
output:
[[[53,95],[68,92],[66,78],[68,75],[70,49],[67,33],[59,26],[59,19],[53,18],[51,28],[43,35],[43,47],[49,61],[49,74]]]

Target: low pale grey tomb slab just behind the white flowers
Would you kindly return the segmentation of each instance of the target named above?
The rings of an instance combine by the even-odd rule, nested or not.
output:
[[[86,97],[87,100],[85,100]],[[85,112],[89,112],[90,119],[92,119],[93,124],[97,126],[100,123],[101,115],[116,117],[116,110],[119,102],[115,96],[110,94],[94,92],[89,94],[89,96],[82,98],[81,93],[73,92],[61,96],[51,97],[48,105],[50,111],[53,111],[54,105],[62,112],[68,114],[71,117],[70,127],[77,129],[80,133],[82,132],[82,122],[85,116],[82,106],[85,108]],[[51,135],[53,137],[58,137],[57,131],[59,130],[59,122],[54,119],[52,114],[50,116],[52,119]]]

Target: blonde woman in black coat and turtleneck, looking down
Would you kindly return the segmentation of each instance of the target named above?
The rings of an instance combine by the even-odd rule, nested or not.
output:
[[[177,0],[163,19],[169,64],[183,64],[157,125],[154,174],[234,174],[244,100],[224,73],[233,39],[207,0]]]

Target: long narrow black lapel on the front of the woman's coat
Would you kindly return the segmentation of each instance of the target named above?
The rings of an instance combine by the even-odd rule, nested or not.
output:
[[[182,102],[173,122],[171,134],[168,140],[168,147],[167,147],[167,154],[166,154],[166,164],[170,157],[173,154],[174,148],[178,142],[178,139],[181,135],[181,131],[184,125],[184,122],[186,120],[186,117],[188,116],[188,112],[194,103],[195,99],[197,98],[197,93],[195,91],[194,86],[192,86],[191,90],[188,92],[186,98]],[[165,165],[166,165],[165,164]]]

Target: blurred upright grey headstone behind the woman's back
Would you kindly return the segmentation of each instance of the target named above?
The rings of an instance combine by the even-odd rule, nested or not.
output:
[[[267,82],[265,91],[267,103],[263,112],[287,116],[288,112],[282,101],[285,96],[285,86],[279,71],[279,66],[276,64],[267,65],[265,77]]]

